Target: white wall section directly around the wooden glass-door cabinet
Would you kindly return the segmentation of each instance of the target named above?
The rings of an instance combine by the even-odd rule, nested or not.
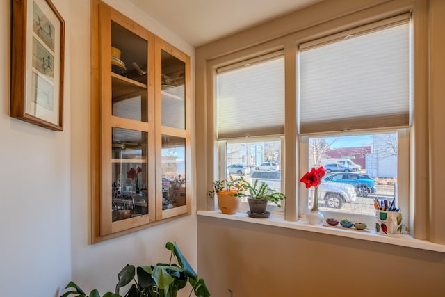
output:
[[[170,254],[164,248],[167,241],[177,241],[184,255],[197,267],[197,235],[195,215],[162,223],[148,229],[90,244],[90,0],[70,1],[74,20],[71,42],[71,97],[72,115],[72,280],[86,291],[99,289],[101,294],[113,291],[118,272],[125,264],[148,265],[168,262]],[[191,45],[171,33],[152,17],[143,15],[127,1],[107,0],[124,15],[145,26],[154,34],[170,42],[191,56]],[[193,73],[193,68],[192,68]],[[193,77],[192,77],[193,81]],[[193,83],[192,83],[193,86]],[[193,193],[194,195],[194,193]],[[193,200],[195,200],[193,198]],[[195,207],[193,207],[195,214]],[[63,285],[71,278],[65,278]],[[183,296],[184,292],[180,292]]]

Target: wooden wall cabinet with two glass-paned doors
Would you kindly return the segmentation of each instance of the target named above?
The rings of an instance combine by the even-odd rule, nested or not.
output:
[[[102,241],[191,213],[190,58],[95,3],[98,114],[92,126],[99,153],[92,241]]]

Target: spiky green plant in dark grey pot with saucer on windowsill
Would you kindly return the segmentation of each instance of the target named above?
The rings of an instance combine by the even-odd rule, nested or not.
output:
[[[244,179],[244,177],[240,177],[240,179],[243,191],[234,195],[248,198],[249,216],[267,218],[270,215],[270,213],[266,211],[268,202],[275,203],[277,207],[281,207],[280,201],[286,199],[283,193],[280,193],[274,188],[270,188],[266,182],[259,183],[258,179],[255,179],[255,182],[252,184]]]

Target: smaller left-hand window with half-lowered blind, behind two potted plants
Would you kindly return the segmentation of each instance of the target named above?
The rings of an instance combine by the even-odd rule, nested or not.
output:
[[[219,177],[243,176],[249,182],[266,182],[280,191],[280,136],[284,134],[282,52],[219,68],[217,90]],[[275,207],[270,205],[269,209],[273,211]],[[247,203],[241,205],[244,210],[248,210]]]

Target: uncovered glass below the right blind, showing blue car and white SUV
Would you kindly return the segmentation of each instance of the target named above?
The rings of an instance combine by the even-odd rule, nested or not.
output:
[[[397,205],[397,150],[396,133],[309,138],[309,168],[326,170],[318,207],[373,216],[374,199]]]

